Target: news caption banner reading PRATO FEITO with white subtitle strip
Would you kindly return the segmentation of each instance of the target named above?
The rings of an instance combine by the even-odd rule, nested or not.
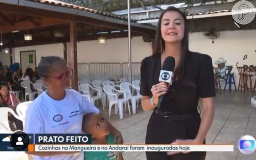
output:
[[[116,151],[116,152],[167,152],[167,151],[191,151],[191,152],[233,152],[233,144],[227,145],[94,145],[91,144],[90,134],[26,134],[18,131],[14,134],[0,134],[0,151]]]

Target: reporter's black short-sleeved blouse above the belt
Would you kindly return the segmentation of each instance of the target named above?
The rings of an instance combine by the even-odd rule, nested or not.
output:
[[[161,55],[148,56],[141,63],[140,94],[152,96],[151,87],[158,82]],[[162,111],[176,114],[197,112],[199,98],[215,97],[214,73],[211,57],[197,52],[187,52],[184,75],[173,82],[162,102]]]

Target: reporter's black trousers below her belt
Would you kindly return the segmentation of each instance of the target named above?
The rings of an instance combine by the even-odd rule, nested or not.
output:
[[[200,115],[189,120],[166,121],[153,112],[147,126],[146,144],[171,144],[176,139],[194,139],[200,126]],[[205,143],[205,142],[204,142]],[[205,160],[206,152],[179,153],[146,152],[147,160]]]

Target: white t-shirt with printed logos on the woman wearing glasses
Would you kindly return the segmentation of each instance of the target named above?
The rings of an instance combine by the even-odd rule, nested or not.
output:
[[[53,100],[41,93],[27,108],[26,134],[81,134],[83,115],[99,109],[75,91],[66,89],[63,100]],[[83,160],[83,152],[55,156],[34,156],[34,160]]]

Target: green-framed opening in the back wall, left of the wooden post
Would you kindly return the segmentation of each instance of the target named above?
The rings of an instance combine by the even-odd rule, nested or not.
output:
[[[37,65],[36,62],[36,51],[21,51],[19,52],[20,56],[20,67],[22,73],[26,72],[26,68],[32,68],[33,71]]]

